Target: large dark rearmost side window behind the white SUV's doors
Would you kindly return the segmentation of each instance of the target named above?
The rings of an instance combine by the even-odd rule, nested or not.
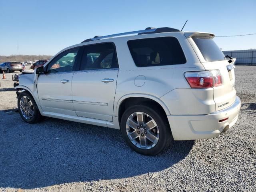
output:
[[[127,44],[138,67],[186,63],[184,52],[175,37],[129,40]]]

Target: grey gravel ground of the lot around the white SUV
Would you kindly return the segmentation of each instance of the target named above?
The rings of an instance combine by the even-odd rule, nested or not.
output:
[[[153,157],[128,148],[119,130],[54,118],[24,123],[12,110],[16,93],[6,76],[0,79],[2,191],[256,191],[256,66],[236,67],[242,108],[228,132],[176,141]]]

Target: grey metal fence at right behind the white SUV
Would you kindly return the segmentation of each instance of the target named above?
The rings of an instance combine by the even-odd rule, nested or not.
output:
[[[224,55],[236,57],[236,65],[256,65],[256,49],[223,51]]]

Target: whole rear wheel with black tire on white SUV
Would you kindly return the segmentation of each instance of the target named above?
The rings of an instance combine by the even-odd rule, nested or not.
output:
[[[172,141],[166,114],[144,105],[131,106],[121,119],[121,132],[126,143],[136,152],[156,155]]]

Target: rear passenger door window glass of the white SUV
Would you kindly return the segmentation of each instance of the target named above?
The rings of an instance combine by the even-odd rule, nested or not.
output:
[[[118,68],[114,44],[103,43],[84,47],[80,70]]]

